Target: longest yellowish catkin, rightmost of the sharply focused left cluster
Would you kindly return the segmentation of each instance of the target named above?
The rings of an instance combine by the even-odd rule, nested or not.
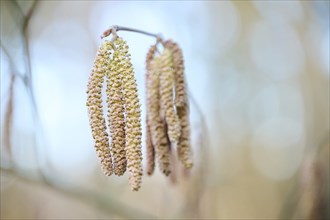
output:
[[[138,98],[137,83],[133,66],[128,52],[128,45],[122,38],[115,40],[118,53],[114,59],[118,60],[116,71],[122,76],[122,91],[126,116],[126,160],[129,173],[129,183],[133,191],[141,186],[142,152],[141,152],[141,110]]]

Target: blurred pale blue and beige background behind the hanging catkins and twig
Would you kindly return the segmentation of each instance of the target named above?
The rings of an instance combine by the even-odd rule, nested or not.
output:
[[[1,219],[329,218],[329,7],[2,0]],[[185,57],[195,165],[145,175],[139,192],[103,176],[85,106],[111,25],[161,33]],[[118,34],[144,121],[155,39]]]

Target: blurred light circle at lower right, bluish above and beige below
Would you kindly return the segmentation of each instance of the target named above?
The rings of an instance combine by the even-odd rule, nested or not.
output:
[[[285,180],[297,171],[304,153],[304,128],[300,121],[269,118],[253,132],[252,161],[264,176]]]

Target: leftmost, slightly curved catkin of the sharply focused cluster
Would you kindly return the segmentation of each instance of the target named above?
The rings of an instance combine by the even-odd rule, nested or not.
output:
[[[103,43],[97,52],[87,85],[87,107],[92,136],[95,141],[94,146],[101,160],[102,170],[107,176],[110,176],[113,170],[107,127],[103,117],[102,85],[109,57],[109,48],[106,43]]]

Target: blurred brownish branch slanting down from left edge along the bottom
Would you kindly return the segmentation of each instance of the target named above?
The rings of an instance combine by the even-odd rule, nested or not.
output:
[[[50,190],[54,190],[65,196],[81,200],[95,208],[109,213],[111,215],[118,215],[128,219],[155,219],[156,217],[145,213],[141,210],[130,207],[122,202],[111,198],[109,195],[104,195],[100,192],[83,189],[81,187],[69,186],[66,184],[54,183],[53,181],[32,178],[28,175],[21,174],[12,169],[6,169],[1,167],[1,175],[7,175],[13,177],[21,182],[32,184],[40,187],[46,187]]]

